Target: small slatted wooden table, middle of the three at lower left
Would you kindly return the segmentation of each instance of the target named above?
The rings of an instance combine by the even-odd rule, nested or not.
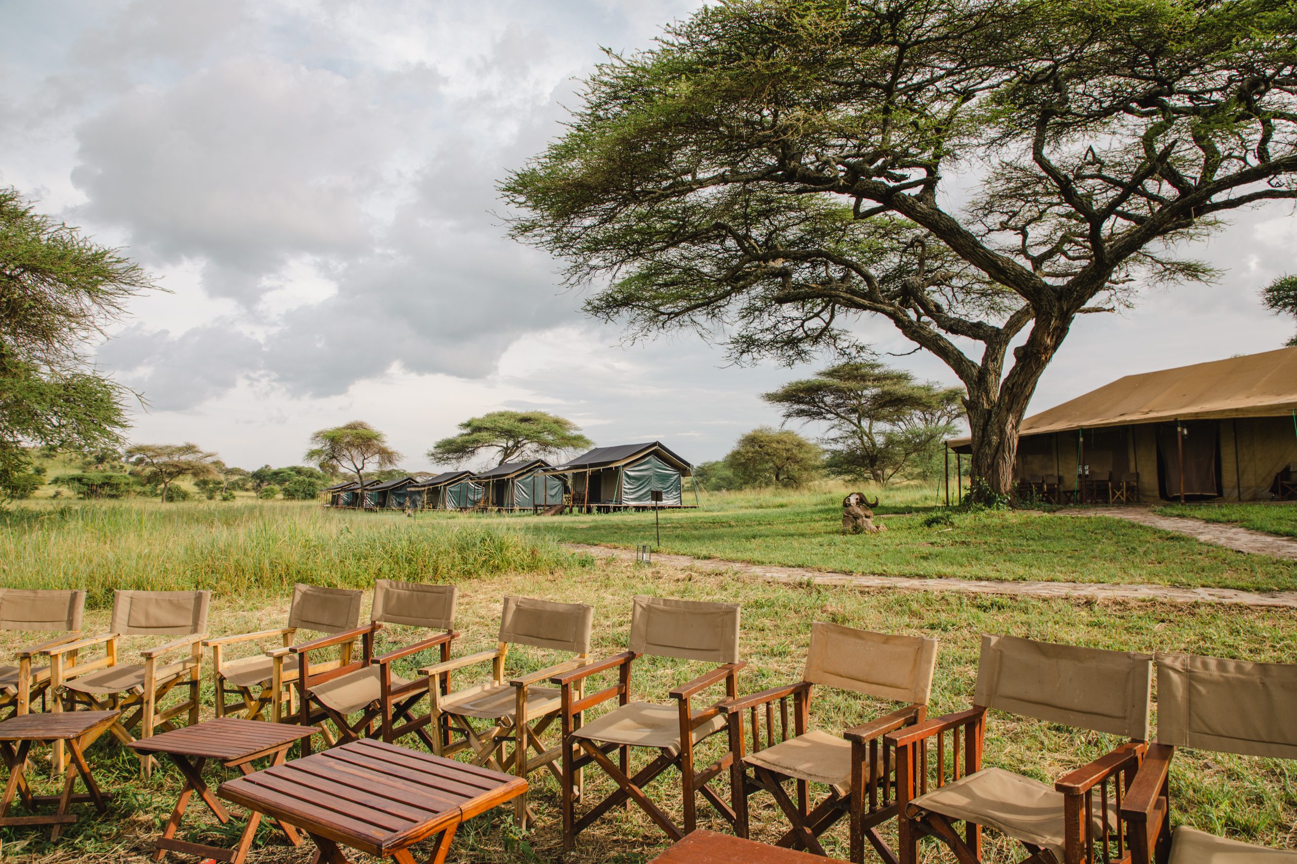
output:
[[[166,754],[184,775],[184,789],[175,802],[171,819],[162,829],[162,836],[154,841],[157,851],[153,852],[153,860],[161,861],[167,851],[173,851],[230,861],[230,864],[243,864],[253,837],[257,834],[257,825],[261,823],[262,815],[256,808],[248,813],[248,825],[239,836],[239,845],[232,850],[175,839],[175,833],[180,828],[180,820],[184,819],[184,811],[189,806],[189,798],[193,793],[198,793],[198,798],[220,820],[222,825],[230,821],[230,813],[202,780],[204,766],[209,759],[217,759],[226,768],[237,768],[244,775],[250,775],[253,773],[252,763],[257,759],[270,758],[271,767],[280,766],[284,763],[289,747],[314,733],[314,727],[217,718],[132,741],[128,746],[141,754]],[[274,821],[293,846],[301,843],[301,837],[292,825],[278,819]]]

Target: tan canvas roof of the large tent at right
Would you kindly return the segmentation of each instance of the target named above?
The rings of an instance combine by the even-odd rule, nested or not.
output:
[[[1022,421],[1021,435],[1297,409],[1297,347],[1126,376]],[[947,442],[969,444],[968,437]]]

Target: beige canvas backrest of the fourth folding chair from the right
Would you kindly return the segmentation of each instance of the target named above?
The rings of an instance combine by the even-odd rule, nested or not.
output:
[[[738,604],[637,596],[630,650],[658,657],[738,662]]]

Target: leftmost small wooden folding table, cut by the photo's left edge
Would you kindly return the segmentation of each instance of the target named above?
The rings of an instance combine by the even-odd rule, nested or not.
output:
[[[19,714],[0,723],[0,756],[9,768],[9,781],[0,798],[0,825],[51,825],[49,839],[58,839],[64,825],[71,825],[77,817],[67,812],[74,802],[91,802],[99,812],[108,810],[108,798],[100,791],[86,763],[86,749],[104,734],[117,722],[119,711],[61,711],[51,714]],[[66,744],[69,755],[61,795],[34,795],[27,785],[27,750],[32,744]],[[17,746],[16,746],[17,745]],[[73,784],[80,775],[86,784],[86,794],[73,794]],[[36,804],[57,802],[53,813],[36,816],[9,816],[9,806],[14,795],[21,795],[25,804],[35,811]]]

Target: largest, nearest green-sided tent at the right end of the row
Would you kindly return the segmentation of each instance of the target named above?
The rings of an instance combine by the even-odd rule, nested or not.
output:
[[[568,478],[575,510],[690,506],[684,500],[682,481],[693,477],[693,465],[656,440],[595,447],[546,473]]]

